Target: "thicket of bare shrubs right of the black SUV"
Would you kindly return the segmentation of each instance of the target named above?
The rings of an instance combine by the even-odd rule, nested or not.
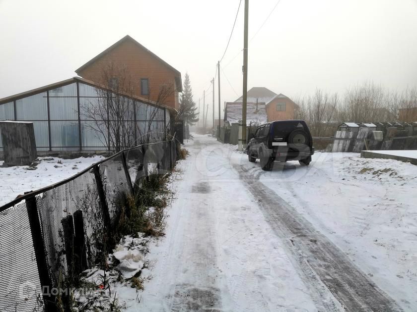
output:
[[[304,119],[313,136],[332,135],[332,127],[342,122],[417,121],[417,87],[398,93],[372,82],[349,88],[344,98],[320,89],[312,96],[298,96],[294,115]]]

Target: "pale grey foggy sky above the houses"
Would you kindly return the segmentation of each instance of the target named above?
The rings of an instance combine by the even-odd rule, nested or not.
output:
[[[417,84],[417,0],[281,0],[260,30],[278,0],[249,2],[248,88],[294,97],[316,87],[343,93],[365,80],[397,90]],[[76,68],[129,34],[183,79],[188,71],[198,104],[238,4],[0,0],[0,98],[75,76]],[[243,5],[220,65],[221,103],[242,94]]]

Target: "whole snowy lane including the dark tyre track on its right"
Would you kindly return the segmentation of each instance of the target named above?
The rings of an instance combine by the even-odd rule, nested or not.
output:
[[[258,163],[203,136],[186,146],[152,278],[128,311],[401,311]]]

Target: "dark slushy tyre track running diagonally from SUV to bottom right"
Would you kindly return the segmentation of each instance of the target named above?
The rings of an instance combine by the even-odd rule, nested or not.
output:
[[[268,222],[297,259],[319,310],[338,310],[326,294],[330,291],[348,311],[401,311],[336,245],[264,186],[259,181],[260,174],[254,176],[253,170],[246,170],[242,165],[235,165],[235,169],[258,199]]]

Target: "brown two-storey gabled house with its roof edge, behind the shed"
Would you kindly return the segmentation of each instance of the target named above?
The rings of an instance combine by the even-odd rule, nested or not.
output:
[[[103,81],[103,68],[108,64],[125,66],[133,79],[135,96],[178,109],[178,93],[182,92],[181,73],[163,59],[147,50],[129,35],[123,37],[84,65],[75,70],[78,76],[102,85],[118,81]],[[162,87],[171,88],[172,94],[159,103]]]

